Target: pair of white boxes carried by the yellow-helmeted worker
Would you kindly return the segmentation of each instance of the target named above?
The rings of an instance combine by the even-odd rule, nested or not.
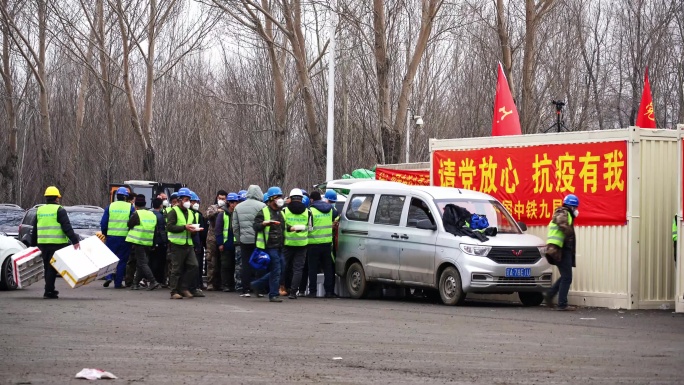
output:
[[[80,249],[67,246],[57,250],[50,260],[72,288],[87,285],[116,271],[119,258],[96,236],[80,242]]]

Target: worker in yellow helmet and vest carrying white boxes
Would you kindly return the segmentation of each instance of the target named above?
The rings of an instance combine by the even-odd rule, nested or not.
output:
[[[50,260],[55,251],[69,245],[74,245],[78,250],[79,237],[74,233],[69,221],[69,215],[59,204],[62,195],[55,186],[45,189],[45,204],[38,207],[36,216],[31,221],[31,244],[38,245],[43,257],[43,269],[45,270],[45,292],[43,298],[57,299],[59,292],[55,290],[57,271],[50,265]]]

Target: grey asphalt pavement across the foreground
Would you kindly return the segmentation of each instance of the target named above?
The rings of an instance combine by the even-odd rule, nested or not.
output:
[[[83,368],[115,384],[684,383],[672,310],[57,288],[0,292],[0,383],[83,383]]]

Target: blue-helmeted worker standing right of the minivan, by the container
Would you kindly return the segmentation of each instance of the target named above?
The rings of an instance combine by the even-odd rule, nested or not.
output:
[[[574,194],[563,198],[563,205],[553,213],[547,235],[547,258],[556,262],[560,278],[544,293],[544,301],[553,307],[553,297],[558,294],[556,310],[573,310],[568,307],[568,292],[572,284],[572,268],[575,267],[575,218],[579,216],[579,199]]]

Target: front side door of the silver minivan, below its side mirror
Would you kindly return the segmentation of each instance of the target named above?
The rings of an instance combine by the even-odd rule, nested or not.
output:
[[[430,206],[422,198],[411,197],[406,206],[405,221],[399,230],[401,266],[399,279],[425,285],[434,283],[437,230],[419,229],[418,221],[430,220],[436,225]]]

